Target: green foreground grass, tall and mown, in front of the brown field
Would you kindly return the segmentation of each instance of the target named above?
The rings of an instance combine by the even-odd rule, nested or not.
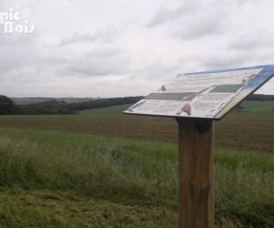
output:
[[[177,227],[177,146],[0,130],[0,223],[7,227]],[[272,155],[217,151],[217,227],[271,227]],[[82,221],[82,222],[81,222]]]

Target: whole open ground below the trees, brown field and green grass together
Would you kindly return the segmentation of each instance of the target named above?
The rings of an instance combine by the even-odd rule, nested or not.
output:
[[[125,108],[0,116],[0,226],[177,227],[177,122]],[[273,112],[231,113],[215,144],[216,227],[273,227]]]

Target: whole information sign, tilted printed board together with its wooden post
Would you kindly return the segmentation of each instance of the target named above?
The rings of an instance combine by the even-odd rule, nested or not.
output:
[[[274,65],[183,73],[124,111],[178,121],[179,227],[214,226],[213,121],[273,75]]]

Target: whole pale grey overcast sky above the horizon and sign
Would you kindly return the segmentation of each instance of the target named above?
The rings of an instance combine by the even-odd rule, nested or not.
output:
[[[147,95],[179,73],[274,64],[271,0],[0,0],[0,94]],[[258,90],[274,94],[274,79]]]

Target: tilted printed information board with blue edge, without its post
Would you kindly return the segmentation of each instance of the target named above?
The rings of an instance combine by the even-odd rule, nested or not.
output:
[[[125,114],[221,119],[274,76],[274,65],[179,74]]]

